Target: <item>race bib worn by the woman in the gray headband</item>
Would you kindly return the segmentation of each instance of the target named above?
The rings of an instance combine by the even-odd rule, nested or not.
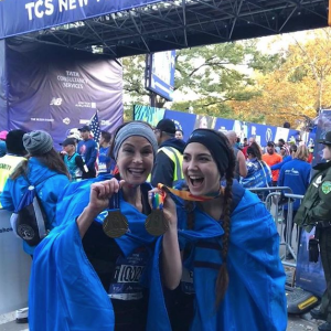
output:
[[[118,300],[139,300],[143,297],[140,278],[148,260],[146,248],[137,248],[128,257],[120,256],[116,261],[114,279],[108,296]]]

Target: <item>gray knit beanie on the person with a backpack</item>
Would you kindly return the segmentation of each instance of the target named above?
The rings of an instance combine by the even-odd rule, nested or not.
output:
[[[23,145],[31,156],[41,156],[53,148],[53,139],[47,132],[36,130],[23,136]]]

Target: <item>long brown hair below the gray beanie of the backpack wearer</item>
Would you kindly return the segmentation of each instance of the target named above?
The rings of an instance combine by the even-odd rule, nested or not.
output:
[[[28,160],[22,161],[10,175],[10,179],[15,180],[20,175],[29,175],[29,159],[32,156],[28,157]],[[71,178],[67,168],[65,167],[64,161],[60,157],[60,154],[52,148],[49,152],[42,156],[33,156],[33,158],[38,159],[43,166],[53,170],[60,174],[65,174],[68,179]]]

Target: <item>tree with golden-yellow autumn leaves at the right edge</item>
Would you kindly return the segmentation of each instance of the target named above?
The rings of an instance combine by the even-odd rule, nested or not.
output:
[[[265,121],[281,126],[307,124],[319,110],[331,106],[331,40],[327,29],[307,32],[305,41],[292,34],[280,51],[282,63],[267,75],[255,75],[260,95],[247,102],[231,103],[234,113],[257,113]]]

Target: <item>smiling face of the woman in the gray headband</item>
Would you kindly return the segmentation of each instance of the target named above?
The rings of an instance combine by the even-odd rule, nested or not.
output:
[[[121,179],[128,184],[140,185],[153,167],[152,146],[143,137],[131,136],[122,142],[116,161]]]

